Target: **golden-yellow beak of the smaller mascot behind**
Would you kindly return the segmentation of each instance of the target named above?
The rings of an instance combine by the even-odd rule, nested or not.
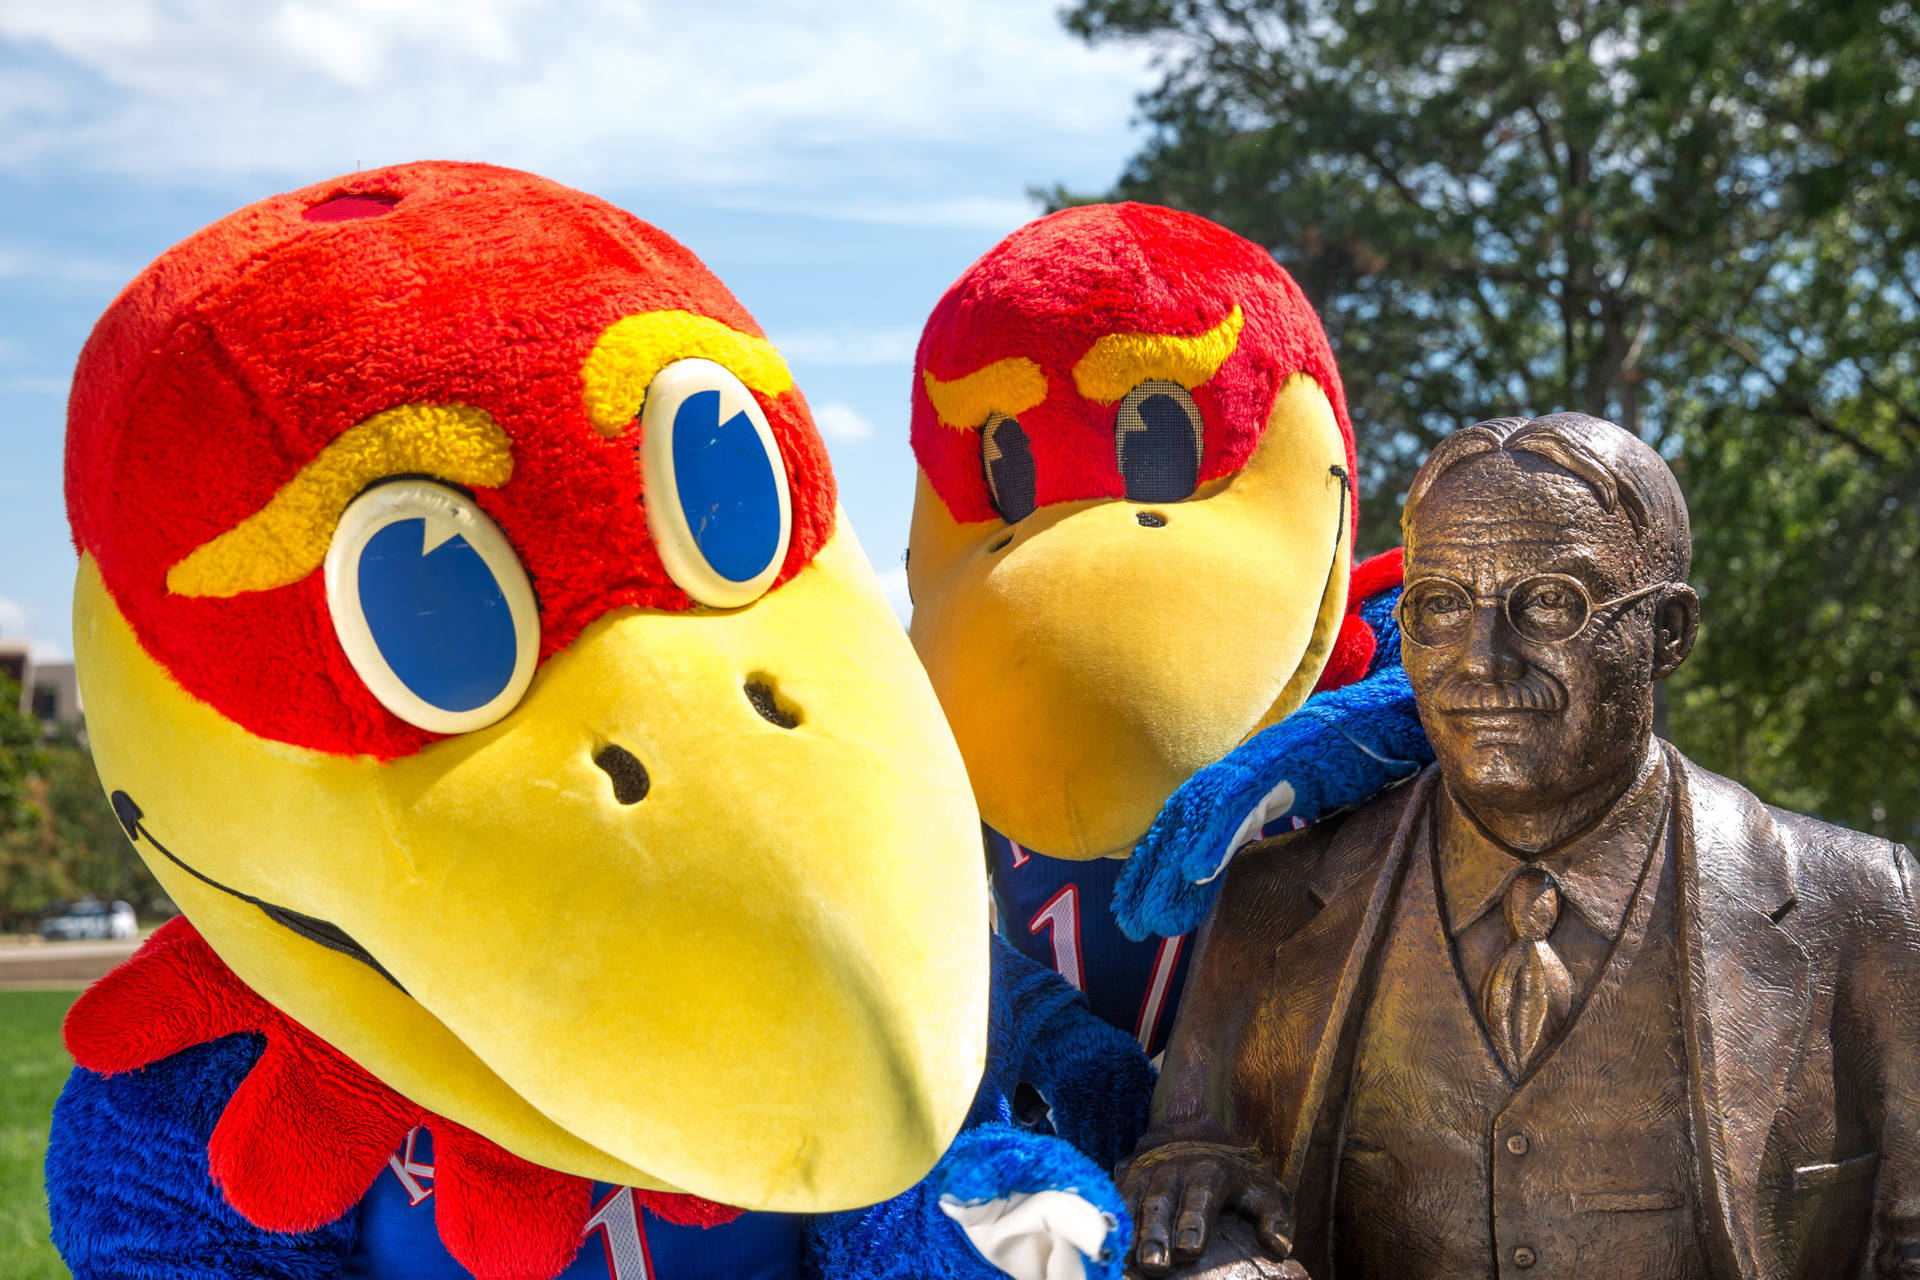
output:
[[[1181,503],[958,524],[922,474],[914,647],[981,818],[1054,858],[1125,856],[1194,770],[1300,706],[1346,608],[1344,470],[1294,374],[1246,466]]]

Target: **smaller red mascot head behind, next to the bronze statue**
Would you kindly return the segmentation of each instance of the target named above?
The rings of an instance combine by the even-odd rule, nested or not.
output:
[[[914,645],[981,818],[1125,854],[1311,693],[1346,606],[1354,434],[1265,249],[1154,205],[995,246],[914,370]]]

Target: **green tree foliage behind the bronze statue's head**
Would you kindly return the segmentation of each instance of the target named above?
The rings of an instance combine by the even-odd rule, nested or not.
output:
[[[1457,426],[1638,430],[1688,487],[1707,601],[1676,741],[1920,833],[1912,4],[1079,0],[1066,23],[1160,54],[1112,196],[1267,246],[1327,320],[1363,549]]]

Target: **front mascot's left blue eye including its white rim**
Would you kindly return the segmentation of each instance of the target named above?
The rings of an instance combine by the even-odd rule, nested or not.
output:
[[[445,486],[396,480],[348,505],[326,551],[326,606],[367,689],[422,729],[490,725],[534,677],[540,610],[526,570]]]

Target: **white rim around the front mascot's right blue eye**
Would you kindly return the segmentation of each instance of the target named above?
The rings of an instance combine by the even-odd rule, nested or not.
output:
[[[766,449],[774,470],[774,491],[780,497],[780,541],[766,568],[745,581],[722,578],[699,543],[680,503],[680,484],[674,474],[674,416],[695,391],[720,391],[720,420],[732,418],[730,409],[743,411]],[[739,608],[766,595],[787,562],[793,539],[793,497],[787,493],[787,457],[774,439],[774,428],[753,391],[726,365],[707,359],[674,361],[647,384],[647,401],[639,411],[639,468],[645,478],[647,532],[660,553],[660,564],[680,587],[701,604]]]

